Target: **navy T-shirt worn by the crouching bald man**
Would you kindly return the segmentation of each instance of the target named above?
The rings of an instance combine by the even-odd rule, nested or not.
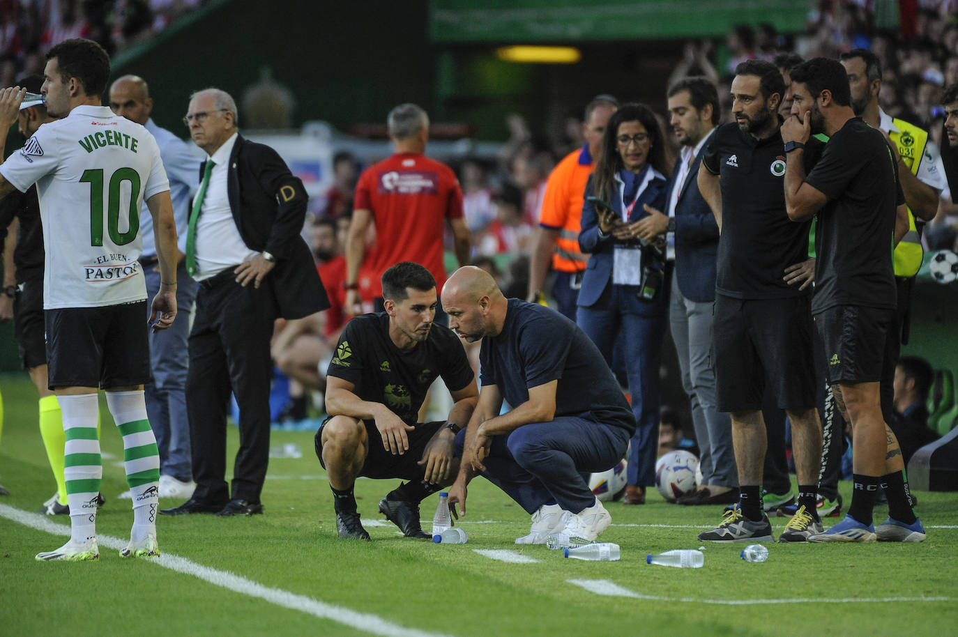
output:
[[[578,416],[635,433],[635,417],[602,353],[579,326],[554,309],[509,300],[496,336],[482,339],[482,384],[495,385],[513,407],[529,388],[559,380],[556,416]]]

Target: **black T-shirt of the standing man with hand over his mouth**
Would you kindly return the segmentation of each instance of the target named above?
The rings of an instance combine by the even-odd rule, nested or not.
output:
[[[861,118],[849,120],[806,181],[829,198],[818,212],[811,311],[895,307],[892,241],[904,194],[884,136]]]

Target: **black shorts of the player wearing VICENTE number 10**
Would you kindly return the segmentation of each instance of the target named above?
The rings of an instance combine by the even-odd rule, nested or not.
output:
[[[147,302],[44,312],[50,389],[128,387],[149,380]]]

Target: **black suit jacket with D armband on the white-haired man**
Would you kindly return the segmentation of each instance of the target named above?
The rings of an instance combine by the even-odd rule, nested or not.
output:
[[[199,167],[200,179],[205,164]],[[276,267],[266,277],[279,315],[302,318],[330,307],[312,254],[300,235],[308,195],[280,155],[240,135],[230,153],[227,194],[246,246],[276,257]]]

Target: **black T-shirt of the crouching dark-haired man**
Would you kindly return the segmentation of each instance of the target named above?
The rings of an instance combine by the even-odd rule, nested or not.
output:
[[[327,375],[352,382],[356,396],[383,403],[412,426],[433,380],[442,376],[449,391],[457,392],[473,377],[452,330],[433,323],[425,341],[400,350],[389,337],[386,312],[356,316],[346,324]]]

